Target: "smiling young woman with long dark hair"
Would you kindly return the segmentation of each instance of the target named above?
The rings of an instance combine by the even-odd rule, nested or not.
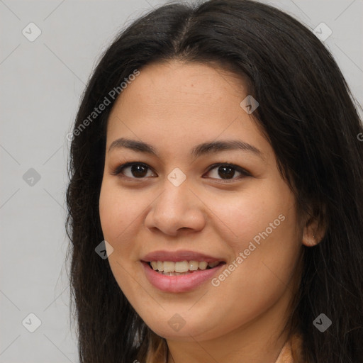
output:
[[[330,52],[272,6],[130,25],[72,133],[80,361],[363,362],[362,131]]]

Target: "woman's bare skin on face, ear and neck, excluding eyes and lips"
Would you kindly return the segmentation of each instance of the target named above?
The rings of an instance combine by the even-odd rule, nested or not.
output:
[[[99,199],[104,238],[114,249],[108,261],[135,311],[166,338],[169,363],[275,362],[286,342],[281,331],[301,273],[302,245],[318,241],[316,225],[297,215],[253,113],[240,106],[246,96],[241,77],[175,60],[140,69],[108,119]],[[149,143],[158,157],[125,148],[108,152],[121,137]],[[199,143],[236,139],[262,157],[243,150],[189,156]],[[141,178],[130,167],[113,175],[125,162],[150,169]],[[218,167],[208,171],[226,162],[251,175],[236,170],[225,182]],[[167,179],[176,167],[186,175],[180,186]],[[217,287],[207,281],[193,291],[167,293],[145,277],[140,259],[155,250],[204,252],[228,266],[279,215],[284,221]],[[186,322],[179,331],[168,324],[176,313]]]

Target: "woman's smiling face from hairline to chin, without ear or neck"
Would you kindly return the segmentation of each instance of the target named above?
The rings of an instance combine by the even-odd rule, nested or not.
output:
[[[108,119],[108,262],[135,311],[170,340],[266,329],[288,312],[303,230],[271,145],[240,106],[245,89],[208,65],[148,65]],[[169,276],[175,268],[188,272]]]

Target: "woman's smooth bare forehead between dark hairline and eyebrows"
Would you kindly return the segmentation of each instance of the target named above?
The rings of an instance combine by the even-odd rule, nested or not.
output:
[[[170,147],[238,136],[260,143],[255,121],[240,106],[245,84],[242,77],[201,63],[147,65],[113,106],[107,147],[121,137]]]

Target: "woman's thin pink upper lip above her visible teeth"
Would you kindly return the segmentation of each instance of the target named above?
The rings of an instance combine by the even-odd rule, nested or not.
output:
[[[144,262],[151,261],[206,261],[206,262],[225,262],[223,258],[213,257],[210,255],[205,255],[200,252],[188,251],[188,250],[179,250],[179,251],[153,251],[145,255],[142,259]]]

